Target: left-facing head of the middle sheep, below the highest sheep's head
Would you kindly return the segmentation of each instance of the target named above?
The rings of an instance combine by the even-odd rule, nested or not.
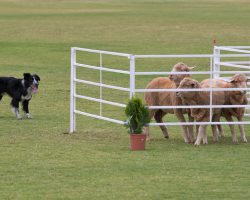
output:
[[[195,89],[201,88],[200,83],[191,78],[184,78],[178,87],[178,89]],[[182,99],[194,99],[197,96],[197,91],[179,91],[176,92],[177,97],[181,97]]]

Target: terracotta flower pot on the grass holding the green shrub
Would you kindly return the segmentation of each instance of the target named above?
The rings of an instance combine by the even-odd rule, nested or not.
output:
[[[130,134],[130,149],[132,151],[145,150],[146,134]]]

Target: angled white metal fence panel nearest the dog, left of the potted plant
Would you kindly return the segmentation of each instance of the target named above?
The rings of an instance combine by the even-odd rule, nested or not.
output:
[[[76,62],[77,51],[84,51],[84,52],[99,54],[100,55],[100,64],[99,64],[99,66],[92,66],[92,65],[88,65],[88,64],[77,63]],[[101,119],[101,120],[106,120],[106,121],[110,121],[110,122],[114,122],[114,123],[118,123],[118,124],[124,124],[124,122],[121,121],[121,120],[112,119],[112,118],[109,118],[109,117],[102,116],[102,104],[109,104],[109,105],[118,106],[118,107],[125,107],[126,106],[125,104],[103,100],[102,89],[103,88],[109,88],[109,89],[114,89],[114,90],[126,91],[126,92],[130,93],[130,96],[132,96],[133,92],[132,92],[131,88],[133,88],[133,86],[130,85],[130,88],[124,88],[124,87],[119,87],[119,86],[114,86],[114,85],[109,85],[109,84],[103,84],[102,72],[107,71],[107,72],[112,72],[112,73],[127,74],[127,75],[131,76],[131,74],[133,74],[133,71],[131,71],[131,70],[130,71],[117,70],[117,69],[102,67],[102,55],[114,55],[114,56],[127,57],[130,60],[133,59],[132,55],[125,54],[125,53],[93,50],[93,49],[78,48],[78,47],[72,47],[71,48],[71,82],[70,82],[70,84],[71,84],[71,92],[70,92],[70,130],[69,130],[69,132],[71,132],[71,133],[76,131],[76,114],[85,115],[85,116],[88,116],[88,117]],[[134,62],[131,61],[130,65],[132,65],[133,63]],[[99,82],[78,79],[76,77],[76,68],[77,67],[88,68],[88,69],[92,69],[92,70],[99,70],[100,71],[100,80],[99,80]],[[130,69],[133,69],[133,68],[134,67],[130,67]],[[100,87],[100,97],[99,98],[93,98],[93,97],[77,94],[76,93],[76,83],[83,83],[83,84],[87,84],[87,85],[90,85],[90,86],[98,86],[98,87]],[[99,115],[77,110],[76,109],[76,100],[78,98],[86,99],[86,100],[94,101],[94,102],[99,102],[100,103]]]

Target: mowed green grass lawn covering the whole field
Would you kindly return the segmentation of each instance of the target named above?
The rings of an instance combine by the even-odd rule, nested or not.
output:
[[[231,144],[226,126],[217,144],[209,128],[209,144],[199,148],[183,142],[180,127],[169,127],[170,140],[153,127],[143,152],[129,150],[123,126],[84,116],[77,116],[77,133],[66,134],[70,47],[211,53],[215,38],[219,45],[249,45],[249,19],[248,0],[0,0],[0,76],[41,77],[30,103],[32,120],[16,120],[9,97],[0,103],[0,199],[250,199],[250,145]],[[91,55],[82,59],[98,63]],[[116,64],[112,59],[105,62]],[[151,63],[155,69],[172,66]],[[205,61],[187,64],[205,69]],[[90,70],[82,76],[98,79]],[[128,85],[125,78],[106,76]],[[99,95],[98,88],[82,87]],[[128,98],[109,90],[104,95],[119,102]],[[98,113],[98,104],[79,106]],[[122,110],[107,106],[104,112],[125,119]],[[249,131],[246,126],[250,140]]]

